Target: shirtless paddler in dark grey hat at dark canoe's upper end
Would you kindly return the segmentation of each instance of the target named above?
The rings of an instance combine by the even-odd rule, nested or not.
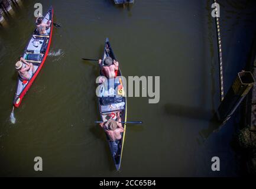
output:
[[[112,60],[111,57],[106,57],[103,60],[103,64],[102,60],[99,60],[99,66],[101,67],[102,73],[109,79],[116,77],[119,66],[118,61]]]

